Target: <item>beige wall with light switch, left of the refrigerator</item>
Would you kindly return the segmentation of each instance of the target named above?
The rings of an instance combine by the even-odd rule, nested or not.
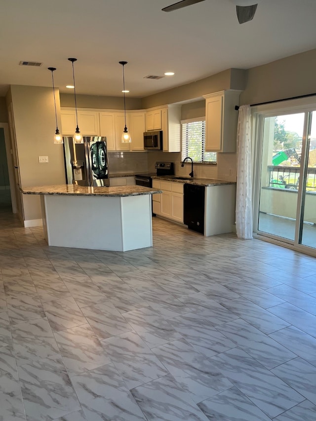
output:
[[[56,106],[60,114],[58,90]],[[63,145],[54,145],[56,130],[52,88],[11,86],[21,187],[65,183]],[[10,95],[7,97],[10,101]],[[60,121],[58,125],[61,126]],[[39,163],[48,156],[48,163]],[[23,195],[24,220],[41,218],[39,196]]]

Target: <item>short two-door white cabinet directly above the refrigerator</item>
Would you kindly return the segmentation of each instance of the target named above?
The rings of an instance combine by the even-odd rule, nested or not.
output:
[[[78,127],[82,136],[99,135],[99,113],[97,111],[78,110]],[[61,132],[64,136],[73,136],[77,127],[76,111],[61,111]]]

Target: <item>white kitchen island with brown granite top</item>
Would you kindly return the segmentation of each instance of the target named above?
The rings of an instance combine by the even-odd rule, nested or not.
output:
[[[142,186],[40,186],[45,239],[50,246],[127,251],[153,246],[152,194]]]

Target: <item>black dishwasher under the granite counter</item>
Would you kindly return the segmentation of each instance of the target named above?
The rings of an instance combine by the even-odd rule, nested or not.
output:
[[[183,222],[190,228],[204,234],[205,187],[185,184],[183,189]]]

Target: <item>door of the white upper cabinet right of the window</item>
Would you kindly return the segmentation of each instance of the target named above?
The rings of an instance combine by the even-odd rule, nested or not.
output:
[[[223,140],[223,95],[205,101],[205,151],[221,152]]]

